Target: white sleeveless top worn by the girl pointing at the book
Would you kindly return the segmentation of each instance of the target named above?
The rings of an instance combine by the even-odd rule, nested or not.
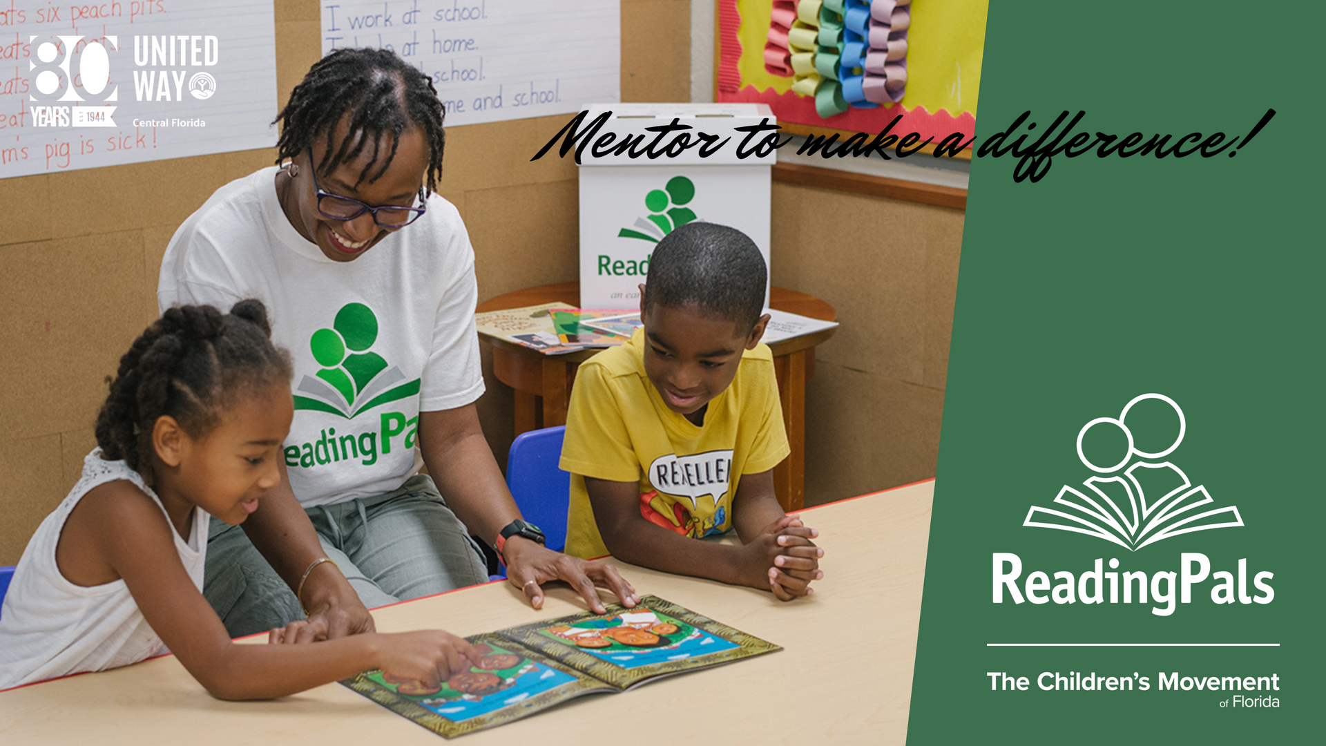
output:
[[[123,580],[74,585],[56,564],[60,532],[74,506],[93,487],[117,479],[133,482],[160,506],[156,492],[123,461],[102,459],[101,449],[88,454],[82,479],[37,527],[5,593],[0,608],[0,689],[85,670],[106,670],[170,652],[138,611]],[[179,560],[199,592],[203,589],[208,520],[207,512],[194,508],[188,540],[171,528]]]

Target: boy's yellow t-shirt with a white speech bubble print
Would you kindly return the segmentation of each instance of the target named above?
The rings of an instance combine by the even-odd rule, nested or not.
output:
[[[636,482],[640,515],[684,536],[732,528],[732,495],[743,474],[760,474],[792,453],[773,353],[741,356],[732,385],[709,401],[704,425],[663,404],[644,374],[644,335],[579,366],[566,413],[561,467],[572,473],[566,554],[607,554],[594,523],[585,477]]]

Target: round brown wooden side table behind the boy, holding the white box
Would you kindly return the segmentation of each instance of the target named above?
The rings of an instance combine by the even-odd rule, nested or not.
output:
[[[579,283],[556,283],[509,292],[480,303],[477,312],[554,301],[565,303],[568,308],[579,307]],[[770,288],[769,305],[812,319],[837,320],[837,313],[827,303],[813,295],[786,288]],[[769,345],[778,377],[782,425],[792,446],[792,454],[773,469],[773,483],[778,502],[788,511],[800,510],[805,503],[806,380],[814,374],[815,345],[833,333],[834,329],[823,329]],[[598,350],[542,354],[505,340],[487,336],[480,338],[493,346],[493,374],[514,390],[516,434],[566,425],[566,408],[570,404],[575,370]]]

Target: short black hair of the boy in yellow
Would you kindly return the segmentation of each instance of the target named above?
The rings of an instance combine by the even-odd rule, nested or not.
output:
[[[663,236],[650,258],[644,309],[695,305],[744,331],[760,320],[768,269],[754,242],[717,223],[687,223]]]

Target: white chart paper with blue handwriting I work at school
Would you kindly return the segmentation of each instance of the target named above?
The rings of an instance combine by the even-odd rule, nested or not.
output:
[[[447,126],[621,101],[617,0],[324,0],[322,53],[381,46],[432,78]]]

